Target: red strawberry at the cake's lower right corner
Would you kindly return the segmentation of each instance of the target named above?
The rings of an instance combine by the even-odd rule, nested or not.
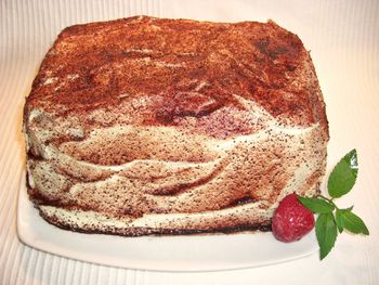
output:
[[[274,236],[285,243],[300,239],[314,226],[313,212],[300,204],[295,193],[287,195],[274,212]]]

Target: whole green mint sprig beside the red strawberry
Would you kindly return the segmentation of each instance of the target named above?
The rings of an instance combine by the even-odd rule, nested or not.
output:
[[[316,237],[319,245],[319,259],[324,259],[335,246],[338,233],[347,230],[354,234],[369,235],[364,221],[353,213],[353,206],[340,209],[335,204],[339,198],[349,193],[355,184],[358,173],[356,151],[352,150],[336,165],[328,180],[329,197],[317,195],[315,197],[300,197],[299,202],[317,213]]]

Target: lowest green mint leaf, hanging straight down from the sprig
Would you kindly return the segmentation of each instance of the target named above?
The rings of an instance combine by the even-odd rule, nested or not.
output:
[[[319,245],[319,259],[324,259],[335,246],[337,226],[331,212],[319,213],[316,220],[316,236]]]

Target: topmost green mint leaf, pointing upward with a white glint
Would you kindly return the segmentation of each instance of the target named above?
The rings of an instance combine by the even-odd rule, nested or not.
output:
[[[358,172],[356,151],[349,152],[334,168],[328,180],[329,195],[334,198],[347,194],[355,184]]]

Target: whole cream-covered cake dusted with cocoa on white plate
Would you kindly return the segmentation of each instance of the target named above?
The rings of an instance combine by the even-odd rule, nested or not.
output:
[[[149,16],[65,28],[24,134],[43,219],[127,236],[271,230],[284,196],[318,193],[329,139],[298,36]]]

